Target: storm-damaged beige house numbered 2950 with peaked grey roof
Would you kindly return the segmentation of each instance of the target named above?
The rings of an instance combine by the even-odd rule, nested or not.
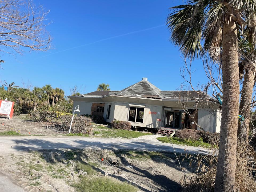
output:
[[[69,96],[74,101],[74,108],[79,105],[78,114],[99,115],[106,122],[113,120],[128,121],[136,128],[161,129],[198,129],[219,132],[221,112],[218,105],[211,110],[197,107],[194,91],[161,91],[143,78],[121,91],[94,91],[91,93]],[[186,101],[187,109],[196,113],[192,119],[181,107],[181,99]]]

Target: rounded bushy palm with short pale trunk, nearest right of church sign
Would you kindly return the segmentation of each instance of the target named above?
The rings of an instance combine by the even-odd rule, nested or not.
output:
[[[33,110],[37,110],[38,105],[46,104],[46,102],[47,95],[39,87],[34,87],[25,101],[28,106],[33,107]]]

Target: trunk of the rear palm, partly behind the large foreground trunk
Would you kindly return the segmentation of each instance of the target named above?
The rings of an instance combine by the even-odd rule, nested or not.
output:
[[[245,78],[243,81],[243,88],[241,92],[241,101],[240,101],[240,114],[244,115],[245,121],[243,125],[238,123],[238,140],[241,142],[248,142],[249,137],[249,126],[250,126],[250,116],[251,111],[249,105],[251,103],[251,97],[253,94],[253,85],[254,85],[254,71],[251,69],[253,66],[249,66],[250,69],[246,69]]]

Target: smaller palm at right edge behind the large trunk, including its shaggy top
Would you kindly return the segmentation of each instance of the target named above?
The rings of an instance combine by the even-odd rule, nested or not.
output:
[[[255,83],[256,49],[251,47],[247,39],[239,41],[239,49],[241,54],[239,59],[239,75],[240,79],[243,79],[239,114],[244,116],[245,121],[243,124],[238,123],[237,135],[239,141],[248,142],[251,117],[250,107]]]

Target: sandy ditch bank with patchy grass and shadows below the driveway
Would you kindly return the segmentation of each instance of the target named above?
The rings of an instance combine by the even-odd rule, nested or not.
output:
[[[118,165],[112,165],[113,161]],[[175,155],[169,152],[39,150],[4,154],[0,162],[0,171],[5,171],[18,186],[29,192],[74,192],[70,185],[87,174],[75,171],[78,162],[90,163],[97,177],[129,182],[138,187],[138,191],[178,192],[181,189],[179,180],[183,177]],[[194,169],[188,164],[184,161],[182,167],[190,175]]]

